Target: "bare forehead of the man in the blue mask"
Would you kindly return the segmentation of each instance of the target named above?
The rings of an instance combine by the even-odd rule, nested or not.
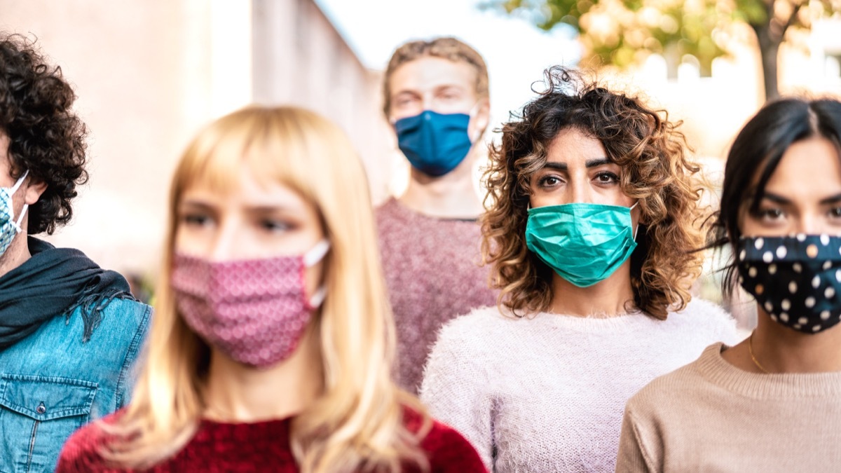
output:
[[[455,86],[476,92],[477,72],[463,61],[423,56],[400,65],[389,77],[392,96],[401,92],[424,93],[443,86]]]

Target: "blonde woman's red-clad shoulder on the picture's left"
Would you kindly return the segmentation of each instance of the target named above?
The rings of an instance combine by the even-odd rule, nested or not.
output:
[[[56,472],[103,470],[104,460],[99,452],[113,438],[103,425],[114,425],[122,414],[120,410],[77,429],[61,449]]]

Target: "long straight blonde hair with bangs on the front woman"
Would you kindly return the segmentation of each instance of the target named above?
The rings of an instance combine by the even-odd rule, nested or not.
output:
[[[257,179],[280,182],[320,212],[331,251],[325,257],[327,297],[312,327],[319,338],[323,394],[294,418],[291,442],[302,471],[398,471],[401,462],[427,468],[419,446],[431,420],[414,396],[390,378],[394,324],[379,263],[368,185],[346,135],[304,109],[252,107],[198,133],[172,179],[163,270],[145,367],[130,406],[106,432],[106,460],[148,467],[176,454],[204,411],[209,347],[179,315],[170,288],[176,210],[198,181],[217,188],[250,167]],[[425,418],[411,433],[408,407]]]

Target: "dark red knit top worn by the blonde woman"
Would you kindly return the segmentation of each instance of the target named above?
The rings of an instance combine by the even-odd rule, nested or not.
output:
[[[120,411],[104,417],[114,422]],[[172,458],[155,465],[151,470],[163,471],[299,471],[289,444],[291,418],[257,423],[220,423],[204,419],[188,444]],[[421,427],[421,416],[406,412],[405,423],[410,431]],[[117,472],[132,471],[104,465],[98,454],[107,438],[97,423],[89,423],[73,433],[61,450],[57,473],[75,471]],[[486,472],[473,446],[452,428],[433,423],[431,431],[421,441],[431,465],[431,472]],[[405,472],[419,471],[407,467]]]

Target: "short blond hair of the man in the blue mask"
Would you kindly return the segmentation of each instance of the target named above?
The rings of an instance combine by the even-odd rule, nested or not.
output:
[[[441,57],[453,62],[464,62],[476,70],[475,92],[478,98],[488,98],[488,66],[482,55],[462,41],[451,37],[434,40],[410,41],[401,45],[389,60],[383,76],[383,113],[389,118],[391,110],[391,76],[399,66],[421,57]]]

